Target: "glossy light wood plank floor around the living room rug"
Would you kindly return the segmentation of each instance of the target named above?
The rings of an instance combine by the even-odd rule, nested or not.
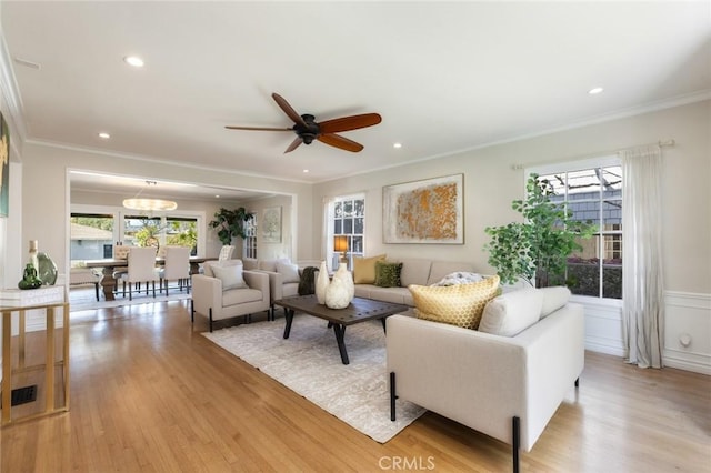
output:
[[[379,444],[213,345],[188,310],[72,313],[71,411],[3,427],[1,471],[510,471],[509,445],[432,413]],[[580,381],[522,471],[711,472],[711,376],[588,353]]]

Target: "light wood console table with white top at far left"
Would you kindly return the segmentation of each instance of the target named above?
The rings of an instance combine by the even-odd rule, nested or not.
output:
[[[59,291],[58,291],[59,290]],[[69,411],[69,303],[66,302],[63,288],[40,288],[36,290],[20,291],[2,290],[0,298],[0,313],[2,315],[2,416],[1,424],[7,425],[20,420],[36,419],[57,412]],[[61,295],[60,295],[61,294]],[[10,295],[10,298],[7,298]],[[14,301],[14,303],[8,303]],[[7,304],[7,305],[6,305]],[[28,349],[39,348],[28,345],[27,318],[30,313],[44,312],[44,353],[40,354],[43,363],[34,363],[36,358]],[[61,336],[56,331],[57,315],[61,311]],[[14,333],[13,333],[14,329]],[[41,336],[41,331],[31,331],[30,334]],[[58,348],[58,341],[61,348]],[[60,355],[60,356],[58,356]],[[30,364],[28,364],[30,361]],[[60,392],[56,391],[56,371],[61,369],[63,385]],[[41,376],[41,372],[44,375]],[[31,379],[42,380],[43,385],[36,389],[34,395],[43,393],[43,402],[38,395],[34,409],[32,406],[12,406],[12,391],[16,384]],[[59,396],[58,396],[59,394]],[[28,403],[29,404],[29,403]],[[13,410],[19,411],[17,415]]]

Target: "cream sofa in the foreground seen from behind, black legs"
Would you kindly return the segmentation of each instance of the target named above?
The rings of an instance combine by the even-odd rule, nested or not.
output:
[[[518,471],[519,450],[533,447],[578,386],[584,364],[583,308],[561,299],[562,288],[550,289],[512,291],[497,298],[497,304],[489,302],[480,331],[413,316],[388,318],[391,420],[395,399],[411,401],[511,444]],[[543,293],[542,302],[531,302],[530,291]],[[530,315],[532,325],[513,336],[482,332],[493,305],[511,316],[502,330]]]

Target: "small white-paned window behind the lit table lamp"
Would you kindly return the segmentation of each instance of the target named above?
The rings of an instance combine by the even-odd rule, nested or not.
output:
[[[332,254],[331,268],[338,268],[340,255],[333,252],[333,236],[346,235],[348,238],[348,266],[353,268],[353,256],[362,256],[365,253],[363,235],[365,233],[365,197],[348,195],[339,197],[329,203],[329,228],[327,232],[327,249]]]

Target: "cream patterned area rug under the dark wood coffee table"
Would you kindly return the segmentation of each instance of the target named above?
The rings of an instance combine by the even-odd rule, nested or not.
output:
[[[380,321],[346,330],[350,364],[341,363],[336,335],[326,321],[297,314],[287,340],[284,323],[242,324],[203,335],[380,443],[425,412],[398,400],[398,420],[390,421],[385,335]]]

